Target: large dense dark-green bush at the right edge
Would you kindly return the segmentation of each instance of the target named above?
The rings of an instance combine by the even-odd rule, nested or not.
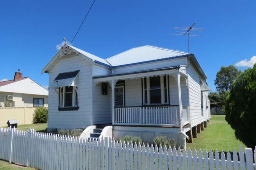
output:
[[[228,92],[226,121],[235,130],[235,136],[247,147],[256,146],[256,64],[239,73]]]

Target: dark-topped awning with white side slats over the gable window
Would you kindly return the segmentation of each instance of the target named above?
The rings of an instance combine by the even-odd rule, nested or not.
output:
[[[78,75],[80,70],[73,72],[60,73],[54,79],[52,83],[49,84],[49,88],[65,87],[65,86],[75,86],[78,87]]]

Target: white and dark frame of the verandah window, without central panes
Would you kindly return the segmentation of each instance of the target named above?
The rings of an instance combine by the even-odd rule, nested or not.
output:
[[[158,76],[160,77],[160,88],[161,89],[161,103],[152,103],[150,100],[150,90],[154,90],[154,89],[150,89],[150,77],[149,78],[142,78],[142,96],[143,96],[143,100],[142,103],[144,105],[166,105],[166,104],[170,104],[169,101],[169,75],[160,75]],[[166,87],[164,85],[164,78],[166,79]],[[146,83],[146,84],[145,84]],[[146,86],[145,86],[146,85]],[[146,87],[146,88],[145,88]],[[167,91],[167,102],[165,101],[165,89]],[[145,101],[145,94],[147,96],[147,101]]]

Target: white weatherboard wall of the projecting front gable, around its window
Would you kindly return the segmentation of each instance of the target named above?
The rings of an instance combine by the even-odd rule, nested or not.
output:
[[[60,58],[49,71],[49,83],[59,73],[80,70],[79,109],[77,111],[58,111],[59,97],[54,88],[49,89],[48,128],[73,129],[86,128],[92,124],[92,65],[80,56]],[[58,91],[58,90],[57,90]]]

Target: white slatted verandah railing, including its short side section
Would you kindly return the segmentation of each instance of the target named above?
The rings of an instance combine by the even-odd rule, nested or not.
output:
[[[183,124],[189,123],[188,106],[183,108]],[[179,106],[116,107],[115,124],[178,125]]]

